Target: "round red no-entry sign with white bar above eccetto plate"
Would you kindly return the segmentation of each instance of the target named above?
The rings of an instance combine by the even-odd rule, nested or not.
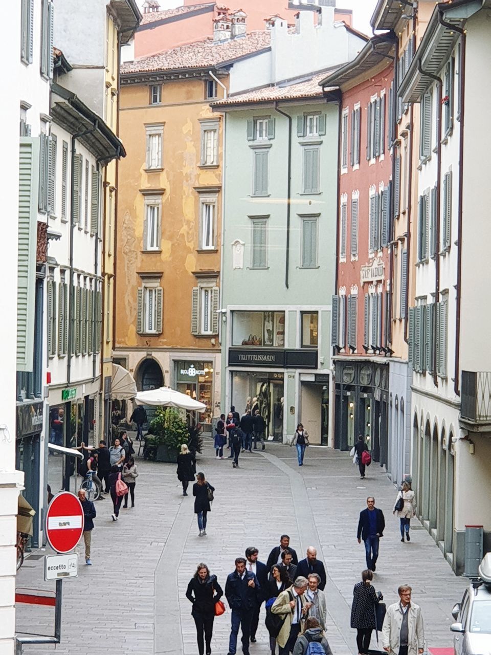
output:
[[[69,491],[56,494],[46,512],[46,537],[53,550],[68,553],[80,541],[84,530],[84,510]]]

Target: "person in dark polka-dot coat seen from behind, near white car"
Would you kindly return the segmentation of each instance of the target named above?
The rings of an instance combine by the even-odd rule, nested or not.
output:
[[[376,629],[375,608],[383,599],[380,591],[376,593],[373,584],[373,572],[369,569],[361,572],[361,582],[353,589],[350,626],[356,629],[358,655],[368,655],[372,631]]]

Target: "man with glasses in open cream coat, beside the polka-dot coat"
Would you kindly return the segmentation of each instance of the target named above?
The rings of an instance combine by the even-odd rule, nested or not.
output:
[[[382,646],[393,655],[421,655],[424,625],[421,608],[411,603],[411,588],[399,587],[399,603],[389,605],[382,627]]]

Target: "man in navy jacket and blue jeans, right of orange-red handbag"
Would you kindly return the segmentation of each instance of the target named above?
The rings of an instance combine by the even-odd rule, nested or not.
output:
[[[242,652],[249,655],[252,615],[261,592],[255,574],[246,571],[245,565],[244,557],[237,557],[235,571],[228,574],[225,584],[225,596],[232,610],[232,629],[227,655],[236,654],[239,627],[242,627]]]

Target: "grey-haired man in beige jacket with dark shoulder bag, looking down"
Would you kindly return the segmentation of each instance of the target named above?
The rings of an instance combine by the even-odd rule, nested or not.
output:
[[[297,637],[303,631],[308,612],[304,596],[307,586],[306,578],[298,576],[293,587],[282,591],[271,607],[272,614],[282,614],[285,617],[276,637],[280,655],[289,655],[293,651]]]

